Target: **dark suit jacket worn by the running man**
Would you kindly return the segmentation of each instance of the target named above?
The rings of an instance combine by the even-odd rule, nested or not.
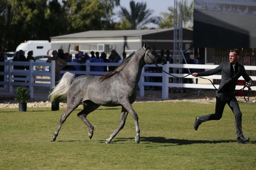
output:
[[[233,93],[236,88],[236,81],[239,79],[239,77],[243,77],[246,82],[253,83],[253,80],[248,76],[248,74],[245,72],[244,66],[237,63],[238,65],[238,73],[236,75],[232,75],[231,72],[231,62],[224,61],[221,62],[221,64],[209,71],[203,71],[199,72],[199,76],[210,76],[213,74],[217,74],[221,72],[221,83],[218,88],[217,93]],[[233,68],[232,68],[233,69]]]

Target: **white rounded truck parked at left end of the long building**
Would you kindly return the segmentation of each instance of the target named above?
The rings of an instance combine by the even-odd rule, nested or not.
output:
[[[23,50],[25,57],[28,56],[29,51],[33,51],[33,57],[51,55],[51,42],[47,40],[29,40],[20,43],[17,46],[16,51]]]

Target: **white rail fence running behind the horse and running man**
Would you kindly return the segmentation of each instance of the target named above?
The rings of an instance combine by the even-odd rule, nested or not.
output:
[[[4,72],[0,72],[0,75],[4,75],[4,82],[0,82],[0,85],[4,85],[5,88],[8,88],[10,92],[12,92],[13,86],[28,86],[30,92],[30,97],[34,98],[34,87],[53,87],[55,85],[55,61],[52,63],[46,62],[34,62],[30,60],[29,62],[13,62],[9,60],[6,62],[0,62],[0,67],[4,65]],[[38,66],[49,66],[50,71],[34,71],[34,69],[29,70],[17,70],[14,69],[15,66],[29,66],[29,68],[33,68],[35,65]],[[69,71],[74,74],[86,74],[86,75],[104,75],[106,72],[99,71],[90,71],[90,66],[117,66],[119,63],[99,63],[99,62],[85,62],[85,63],[77,63],[77,62],[67,62],[67,65],[79,65],[86,66],[86,71]],[[154,65],[145,65],[146,67],[155,67]],[[197,69],[212,69],[216,68],[218,65],[193,65],[193,64],[166,64],[159,65],[163,68],[163,71],[169,72],[169,68],[197,68]],[[244,66],[246,70],[256,70],[256,66]],[[145,67],[144,67],[145,68]],[[161,86],[162,87],[162,98],[169,98],[169,88],[196,88],[196,89],[214,89],[210,82],[204,84],[189,84],[189,83],[172,83],[169,82],[169,78],[172,76],[166,73],[157,73],[157,72],[145,72],[143,68],[139,87],[140,87],[140,96],[144,96],[145,86]],[[61,74],[64,74],[66,71],[61,71]],[[191,71],[192,72],[192,71]],[[177,77],[184,77],[186,74],[172,74]],[[17,77],[18,76],[18,77]],[[20,77],[23,76],[23,77]],[[145,82],[145,76],[148,77],[162,77],[162,82]],[[256,81],[256,76],[250,76],[253,81]],[[208,77],[204,77],[208,79],[221,79],[221,75],[212,75]],[[189,75],[186,79],[195,79]],[[243,80],[242,77],[239,80]],[[218,88],[219,85],[215,85]],[[236,89],[243,88],[243,85],[237,85]],[[253,91],[256,91],[256,87],[252,87]]]

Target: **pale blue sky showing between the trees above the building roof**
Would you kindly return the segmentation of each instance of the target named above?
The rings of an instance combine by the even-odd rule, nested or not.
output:
[[[130,1],[131,0],[120,0],[120,6],[125,7],[126,9],[130,10]],[[184,3],[185,0],[183,0]],[[188,0],[188,4],[190,4],[193,0]],[[134,0],[135,4],[138,2],[143,2],[147,4],[147,9],[154,10],[152,17],[160,16],[160,12],[167,12],[169,13],[168,7],[174,7],[174,0]],[[117,13],[120,11],[121,8],[117,7],[114,8],[114,12]],[[157,24],[150,24],[147,25],[153,28],[157,28]]]

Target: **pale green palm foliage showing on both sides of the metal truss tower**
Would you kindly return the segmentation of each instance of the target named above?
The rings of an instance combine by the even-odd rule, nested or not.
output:
[[[160,28],[172,28],[174,23],[174,8],[168,7],[170,13],[161,12],[159,27]],[[192,29],[193,28],[193,13],[194,13],[194,3],[188,6],[188,1],[185,0],[183,4],[183,28]]]

